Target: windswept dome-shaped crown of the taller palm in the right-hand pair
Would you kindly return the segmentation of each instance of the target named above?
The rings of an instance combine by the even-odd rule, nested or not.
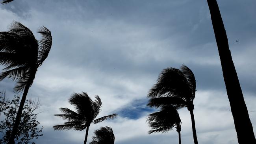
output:
[[[185,65],[180,69],[166,68],[150,89],[149,98],[170,96],[180,98],[186,102],[193,102],[195,98],[196,81],[193,72]]]

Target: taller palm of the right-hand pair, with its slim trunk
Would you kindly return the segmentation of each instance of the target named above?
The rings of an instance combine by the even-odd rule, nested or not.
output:
[[[166,68],[160,73],[157,83],[148,93],[148,97],[151,98],[148,105],[150,107],[172,105],[177,109],[187,107],[191,115],[194,142],[198,144],[193,113],[195,92],[195,76],[187,66],[182,65],[180,69]]]

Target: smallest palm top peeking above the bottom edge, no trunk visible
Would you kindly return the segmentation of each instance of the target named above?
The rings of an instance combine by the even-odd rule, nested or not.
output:
[[[93,141],[89,144],[114,144],[115,135],[111,127],[100,127],[94,132],[96,137],[92,137]]]

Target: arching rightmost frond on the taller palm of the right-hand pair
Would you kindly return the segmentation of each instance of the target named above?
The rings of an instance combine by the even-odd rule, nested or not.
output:
[[[193,96],[195,98],[195,92],[196,92],[196,79],[195,79],[195,75],[193,74],[192,70],[189,69],[186,65],[182,65],[180,66],[180,69],[182,71],[182,73],[184,74],[184,76],[186,77],[189,86],[193,92]]]

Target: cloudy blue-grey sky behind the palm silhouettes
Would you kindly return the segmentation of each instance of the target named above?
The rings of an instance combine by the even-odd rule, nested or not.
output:
[[[256,2],[218,0],[232,58],[250,120],[256,129]],[[194,100],[198,143],[237,144],[234,121],[223,81],[217,45],[206,0],[15,0],[0,6],[0,31],[13,20],[40,39],[45,26],[53,42],[38,69],[28,98],[39,98],[38,120],[44,126],[37,144],[81,144],[85,131],[54,131],[62,124],[59,107],[68,107],[74,92],[102,99],[100,116],[115,120],[93,124],[113,128],[115,144],[175,144],[178,133],[148,135],[148,90],[161,70],[185,64],[197,81]],[[238,42],[236,42],[238,41]],[[2,67],[0,67],[2,69]],[[0,82],[12,98],[15,83]],[[182,143],[193,143],[191,118],[179,111]]]

